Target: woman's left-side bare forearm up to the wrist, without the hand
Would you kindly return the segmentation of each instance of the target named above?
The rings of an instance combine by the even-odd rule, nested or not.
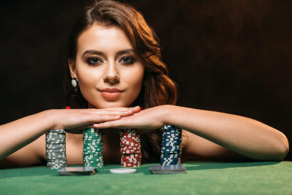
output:
[[[0,160],[35,141],[53,126],[52,110],[0,126]]]

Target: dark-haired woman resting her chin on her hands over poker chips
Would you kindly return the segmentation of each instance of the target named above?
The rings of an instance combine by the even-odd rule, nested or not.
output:
[[[111,0],[94,2],[68,44],[66,85],[76,82],[80,108],[46,110],[0,126],[0,166],[45,164],[49,129],[103,128],[104,162],[119,163],[118,128],[141,128],[143,161],[158,161],[164,124],[183,130],[182,160],[283,160],[280,131],[237,115],[174,106],[158,39],[142,15]],[[72,89],[72,87],[71,87]],[[138,106],[137,106],[138,105]],[[144,109],[140,111],[140,107]],[[82,135],[67,134],[68,164],[82,164]]]

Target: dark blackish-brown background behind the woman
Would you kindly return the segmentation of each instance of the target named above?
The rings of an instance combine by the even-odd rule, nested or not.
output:
[[[65,45],[85,2],[1,1],[0,124],[64,106]],[[292,142],[292,1],[128,2],[161,40],[177,105],[250,117]]]

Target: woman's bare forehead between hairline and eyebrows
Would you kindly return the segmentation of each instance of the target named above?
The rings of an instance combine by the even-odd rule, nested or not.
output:
[[[132,49],[132,44],[125,32],[116,26],[93,24],[78,38],[78,52],[85,50],[124,50]]]

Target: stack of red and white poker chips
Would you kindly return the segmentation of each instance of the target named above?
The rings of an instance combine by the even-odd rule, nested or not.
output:
[[[137,129],[120,130],[121,167],[141,166],[140,133]]]

